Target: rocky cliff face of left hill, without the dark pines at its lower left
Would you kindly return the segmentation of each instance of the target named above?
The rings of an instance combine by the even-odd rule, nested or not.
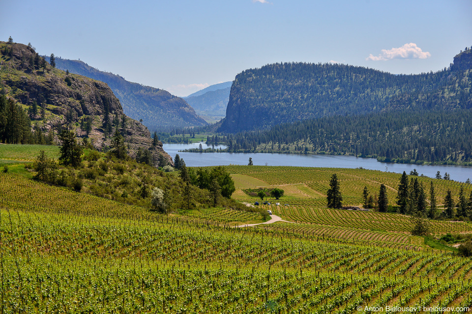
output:
[[[0,62],[3,92],[22,104],[25,110],[36,103],[42,111],[30,115],[32,124],[39,125],[46,133],[57,133],[59,127],[71,128],[85,137],[83,122],[89,120],[92,144],[98,149],[111,145],[110,136],[105,136],[103,130],[105,114],[109,113],[111,121],[122,119],[123,108],[106,83],[55,69],[23,44],[0,42]],[[139,147],[148,149],[152,142],[148,128],[126,116],[125,121],[123,135],[130,155],[133,156]],[[111,123],[115,128],[114,122]],[[162,150],[162,143],[154,151],[171,160]]]

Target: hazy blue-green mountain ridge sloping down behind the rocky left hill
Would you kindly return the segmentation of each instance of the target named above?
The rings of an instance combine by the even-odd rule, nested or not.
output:
[[[48,56],[45,59],[50,61]],[[125,114],[133,119],[142,119],[150,130],[207,124],[182,98],[163,89],[129,82],[119,75],[99,71],[80,60],[56,58],[56,67],[107,83],[120,100]]]

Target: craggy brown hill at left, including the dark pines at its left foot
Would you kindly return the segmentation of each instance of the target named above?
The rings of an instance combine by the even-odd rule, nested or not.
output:
[[[3,142],[42,143],[45,134],[57,141],[55,134],[69,128],[104,149],[119,127],[131,155],[151,147],[148,128],[124,115],[106,83],[53,68],[23,44],[0,42],[0,61],[0,93],[8,100],[0,116]],[[162,143],[151,150],[171,160]]]

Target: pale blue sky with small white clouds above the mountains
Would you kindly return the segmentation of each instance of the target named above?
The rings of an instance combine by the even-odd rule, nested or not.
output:
[[[275,62],[394,74],[472,46],[471,0],[0,0],[0,40],[187,96]]]

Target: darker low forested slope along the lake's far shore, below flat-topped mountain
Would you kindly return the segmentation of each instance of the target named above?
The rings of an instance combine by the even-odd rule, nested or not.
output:
[[[231,152],[350,154],[387,162],[472,165],[471,136],[471,109],[403,109],[230,134],[226,144]]]

